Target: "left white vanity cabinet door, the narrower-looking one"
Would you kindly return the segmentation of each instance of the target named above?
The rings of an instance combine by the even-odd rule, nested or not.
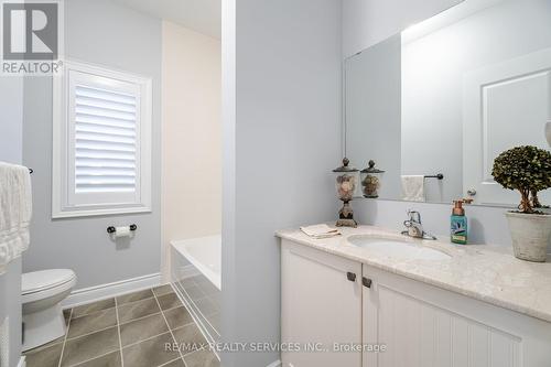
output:
[[[333,348],[361,343],[360,281],[360,263],[282,240],[281,341],[314,349],[283,350],[283,367],[361,366],[361,353]]]

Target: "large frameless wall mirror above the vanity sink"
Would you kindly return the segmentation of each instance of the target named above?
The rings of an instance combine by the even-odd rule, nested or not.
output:
[[[385,171],[379,198],[518,204],[491,168],[517,145],[549,149],[550,0],[465,0],[344,67],[346,155]]]

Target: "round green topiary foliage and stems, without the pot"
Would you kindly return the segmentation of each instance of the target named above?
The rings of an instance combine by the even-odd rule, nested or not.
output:
[[[505,188],[520,192],[521,213],[539,213],[533,209],[539,205],[537,194],[551,187],[551,153],[530,145],[509,149],[496,158],[491,175]]]

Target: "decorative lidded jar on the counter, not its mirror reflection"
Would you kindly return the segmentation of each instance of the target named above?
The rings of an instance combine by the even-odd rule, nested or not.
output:
[[[343,159],[343,165],[333,170],[336,176],[337,196],[343,201],[343,207],[338,211],[337,227],[357,227],[358,223],[354,220],[354,212],[350,202],[354,198],[356,190],[356,172],[358,170],[349,168],[350,161],[347,158]]]

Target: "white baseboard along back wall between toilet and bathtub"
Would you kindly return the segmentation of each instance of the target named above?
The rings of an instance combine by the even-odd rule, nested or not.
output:
[[[86,304],[125,293],[131,293],[160,284],[161,273],[156,272],[154,274],[125,279],[114,283],[83,288],[71,292],[69,296],[67,296],[62,302],[62,309],[71,309],[80,304]]]

